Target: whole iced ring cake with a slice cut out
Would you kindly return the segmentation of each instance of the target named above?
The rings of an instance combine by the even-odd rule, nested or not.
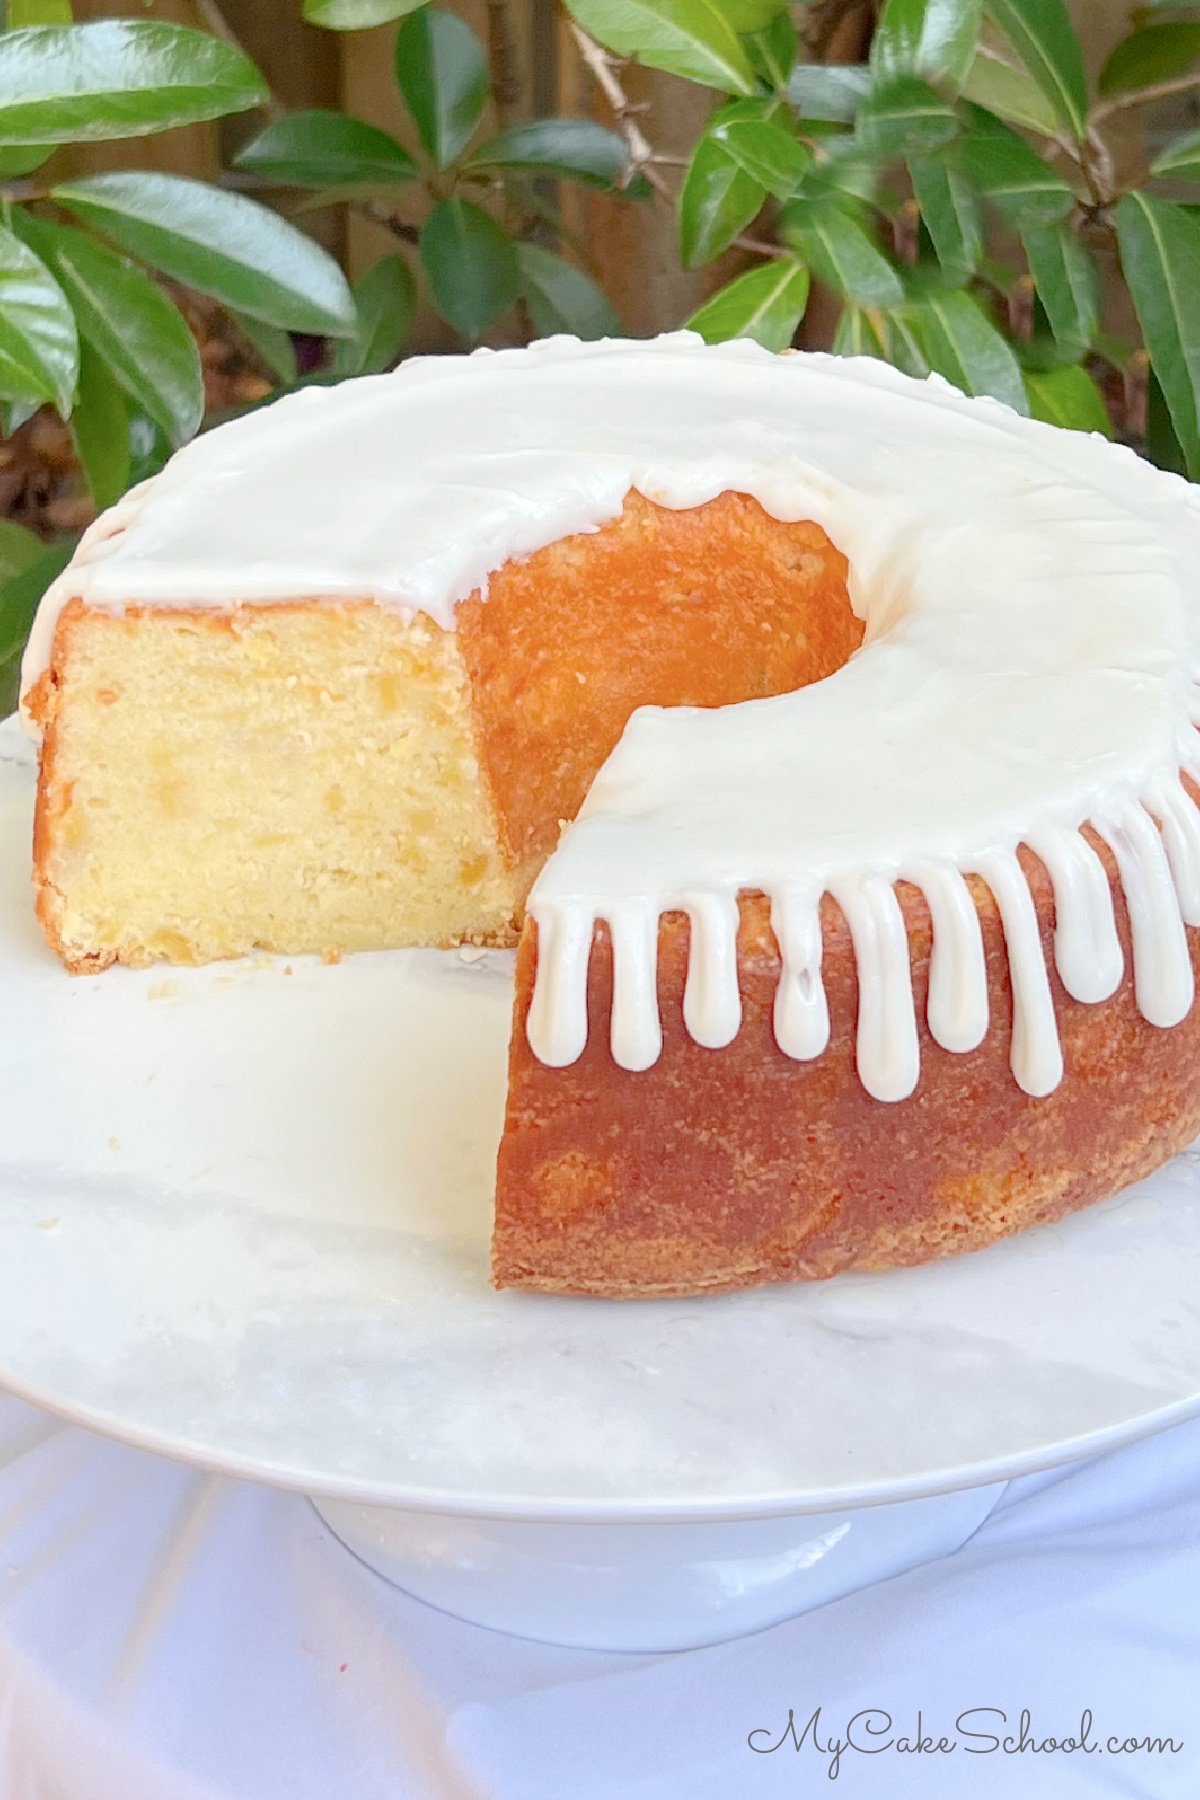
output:
[[[38,911],[76,970],[520,934],[498,1285],[973,1249],[1200,1132],[1198,567],[1187,482],[876,362],[308,389],[47,596]]]

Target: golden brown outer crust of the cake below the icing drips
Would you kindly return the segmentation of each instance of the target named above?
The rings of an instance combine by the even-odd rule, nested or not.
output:
[[[1011,985],[990,889],[972,882],[988,958],[991,1026],[954,1055],[921,1022],[921,1078],[900,1103],[873,1100],[855,1069],[856,974],[846,922],[822,907],[831,1042],[792,1062],[772,1031],[779,958],[761,895],[741,904],[743,1026],[725,1049],[685,1033],[687,922],[662,922],[662,1058],[644,1073],[608,1053],[612,961],[597,929],[588,1046],[549,1069],[525,1042],[536,965],[518,958],[509,1107],[500,1147],[493,1278],[500,1287],[653,1296],[889,1269],[979,1249],[1060,1219],[1150,1174],[1200,1132],[1200,1008],[1159,1030],[1137,1010],[1128,916],[1108,868],[1126,977],[1101,1004],[1072,1001],[1054,970],[1054,902],[1022,851],[1061,1028],[1065,1075],[1045,1098],[1009,1069]],[[925,1017],[930,918],[898,887]],[[1189,932],[1200,976],[1200,932]]]

